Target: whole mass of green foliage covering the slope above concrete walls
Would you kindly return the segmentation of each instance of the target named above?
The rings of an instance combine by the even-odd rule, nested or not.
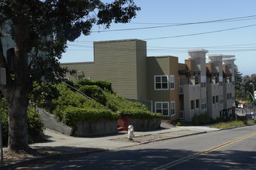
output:
[[[95,83],[91,80],[81,80],[78,83],[88,84]],[[105,81],[96,81],[102,82]],[[72,84],[72,83],[69,83]],[[107,83],[109,84],[109,83]],[[95,119],[117,119],[120,116],[129,116],[133,118],[161,118],[161,114],[151,113],[147,110],[144,104],[139,102],[131,102],[120,97],[109,90],[102,90],[97,85],[84,85],[79,88],[82,93],[85,93],[94,100],[88,100],[80,93],[75,93],[67,84],[54,84],[53,87],[57,90],[57,98],[50,100],[49,105],[42,105],[44,109],[49,110],[49,106],[55,106],[52,113],[55,117],[71,128],[76,129],[78,121],[88,121]],[[98,101],[99,103],[95,102]],[[108,110],[106,107],[109,107]],[[115,113],[116,112],[116,113]]]

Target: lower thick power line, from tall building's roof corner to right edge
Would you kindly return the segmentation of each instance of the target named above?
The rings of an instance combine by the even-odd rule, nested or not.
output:
[[[252,26],[256,26],[256,24],[249,25],[249,26],[240,26],[240,27],[235,27],[235,28],[231,28],[231,29],[220,29],[220,30],[210,31],[210,32],[199,32],[199,33],[185,34],[185,35],[179,35],[179,36],[164,36],[164,37],[156,37],[156,38],[147,38],[147,39],[142,39],[142,40],[172,39],[172,38],[178,38],[178,37],[184,37],[184,36],[198,36],[198,35],[202,35],[202,34],[209,34],[209,33],[215,33],[215,32],[224,32],[224,31],[230,31],[230,30],[234,30],[234,29],[244,29],[244,28],[248,28],[248,27],[252,27]]]

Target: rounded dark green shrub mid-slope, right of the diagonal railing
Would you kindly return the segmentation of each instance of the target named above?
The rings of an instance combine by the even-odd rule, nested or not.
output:
[[[79,90],[100,104],[106,105],[106,96],[100,87],[96,85],[85,85],[80,87]]]

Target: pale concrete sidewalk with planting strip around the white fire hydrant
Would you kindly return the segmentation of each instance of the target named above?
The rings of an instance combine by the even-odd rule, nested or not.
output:
[[[161,129],[152,131],[134,131],[133,140],[127,138],[127,132],[122,131],[118,134],[108,136],[97,136],[90,138],[78,138],[61,134],[57,131],[46,129],[44,134],[47,141],[29,145],[34,149],[49,149],[60,151],[61,154],[48,155],[40,158],[32,158],[25,162],[12,162],[8,165],[0,165],[1,169],[12,169],[19,166],[29,165],[36,162],[43,162],[47,159],[68,158],[74,155],[87,155],[97,151],[115,150],[134,145],[144,145],[154,141],[167,140],[171,138],[181,138],[188,135],[202,134],[210,131],[219,131],[220,129],[201,127],[174,127],[170,124],[161,124]]]

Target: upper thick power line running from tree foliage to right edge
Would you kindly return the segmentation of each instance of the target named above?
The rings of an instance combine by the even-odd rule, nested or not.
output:
[[[224,21],[232,21],[234,19],[245,19],[245,18],[254,18],[254,17],[256,17],[256,15],[242,16],[242,17],[230,18],[230,19],[216,19],[216,20],[203,21],[203,22],[179,23],[179,24],[171,24],[171,25],[168,25],[168,26],[149,26],[149,27],[140,27],[140,28],[131,28],[131,29],[109,29],[109,30],[92,31],[92,32],[118,32],[118,31],[138,30],[138,29],[159,29],[159,28],[171,27],[171,26],[188,26],[188,25],[195,25],[195,24],[205,24],[205,23],[213,23],[213,22],[224,22]]]

